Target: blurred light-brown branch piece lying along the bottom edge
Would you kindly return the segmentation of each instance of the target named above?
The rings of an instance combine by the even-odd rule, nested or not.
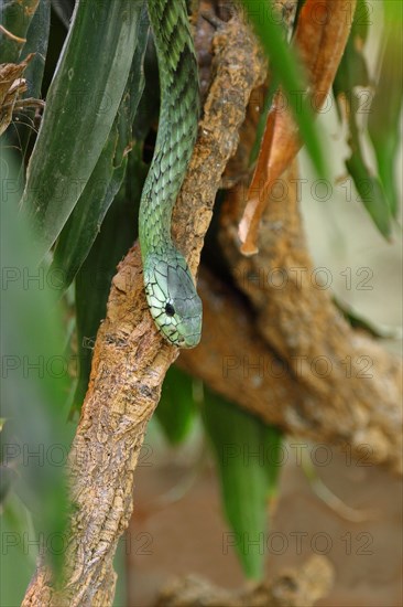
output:
[[[325,597],[334,571],[324,556],[312,556],[299,569],[288,568],[269,583],[250,584],[240,590],[225,590],[188,576],[162,589],[155,607],[309,607]]]

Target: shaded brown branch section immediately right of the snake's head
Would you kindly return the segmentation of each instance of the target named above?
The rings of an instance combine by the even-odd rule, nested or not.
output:
[[[198,291],[203,299],[202,342],[194,350],[181,352],[178,366],[264,422],[291,434],[319,437],[320,430],[304,415],[308,391],[301,388],[268,348],[239,292],[205,267],[200,269]]]

